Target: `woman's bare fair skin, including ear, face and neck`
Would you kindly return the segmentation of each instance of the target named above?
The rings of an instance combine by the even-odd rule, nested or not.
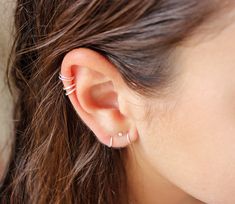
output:
[[[177,77],[162,98],[139,97],[115,66],[93,50],[78,48],[64,57],[62,74],[75,76],[77,89],[69,95],[75,110],[101,143],[108,146],[112,135],[113,148],[124,150],[130,202],[235,203],[231,18],[218,20],[226,27],[213,37],[199,42],[199,34],[194,35],[175,49]],[[129,131],[131,145],[117,136],[119,131]]]

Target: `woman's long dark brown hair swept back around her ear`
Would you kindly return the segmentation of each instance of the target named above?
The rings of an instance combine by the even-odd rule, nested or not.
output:
[[[98,142],[64,96],[64,55],[110,60],[150,97],[169,86],[170,51],[210,13],[198,0],[18,0],[9,75],[18,96],[0,203],[128,203],[122,154]]]

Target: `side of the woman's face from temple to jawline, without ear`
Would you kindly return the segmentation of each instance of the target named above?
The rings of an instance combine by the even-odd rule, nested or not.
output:
[[[213,204],[235,203],[233,22],[213,38],[176,49],[180,74],[174,94],[152,100],[149,120],[136,122],[143,159],[185,192]],[[132,110],[136,117],[139,112]]]

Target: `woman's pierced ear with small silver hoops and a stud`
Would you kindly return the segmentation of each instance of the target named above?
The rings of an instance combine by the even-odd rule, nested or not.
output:
[[[98,140],[112,147],[125,147],[137,139],[134,121],[127,115],[126,86],[115,66],[103,55],[88,48],[68,52],[61,74],[66,93],[83,122]],[[118,133],[123,133],[118,134]],[[127,136],[128,133],[128,136]]]

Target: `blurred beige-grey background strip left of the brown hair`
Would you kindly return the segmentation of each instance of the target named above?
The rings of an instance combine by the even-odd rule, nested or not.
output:
[[[9,155],[12,135],[12,99],[5,80],[7,57],[12,44],[14,0],[0,0],[0,176]]]

